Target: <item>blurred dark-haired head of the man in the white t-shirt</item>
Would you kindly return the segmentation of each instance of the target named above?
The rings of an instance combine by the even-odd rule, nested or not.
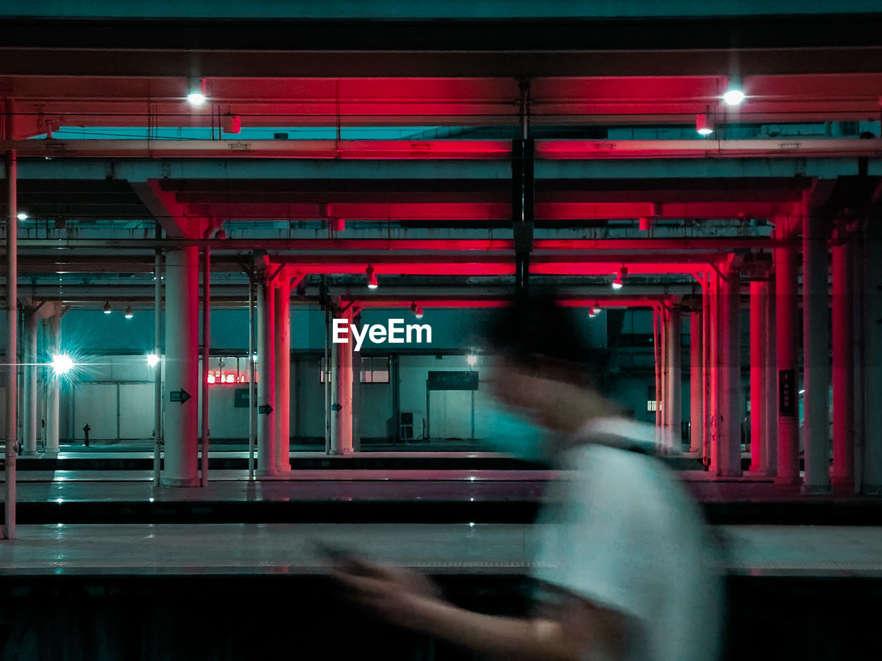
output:
[[[517,296],[499,308],[486,330],[488,351],[501,356],[493,394],[537,423],[572,433],[605,405],[596,383],[605,368],[579,328],[579,308],[554,296]]]

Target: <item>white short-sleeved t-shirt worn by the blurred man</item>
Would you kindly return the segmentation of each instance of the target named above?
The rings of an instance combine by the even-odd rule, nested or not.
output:
[[[659,459],[622,449],[644,444],[647,428],[596,420],[581,434],[587,443],[566,452],[561,468],[572,478],[557,483],[558,504],[535,526],[534,577],[628,616],[628,661],[714,661],[718,558],[676,476]]]

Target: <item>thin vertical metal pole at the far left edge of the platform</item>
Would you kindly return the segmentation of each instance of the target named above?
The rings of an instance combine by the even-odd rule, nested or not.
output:
[[[6,135],[11,137],[11,108],[6,108]],[[19,432],[19,219],[18,167],[15,152],[6,154],[6,448],[4,539],[15,538],[16,452]]]

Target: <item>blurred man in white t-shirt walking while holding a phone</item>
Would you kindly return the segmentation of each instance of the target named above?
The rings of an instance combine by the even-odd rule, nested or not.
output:
[[[503,358],[496,397],[551,432],[546,456],[574,475],[535,526],[536,614],[472,613],[423,576],[355,559],[340,581],[386,619],[492,657],[713,661],[721,591],[701,513],[647,454],[653,428],[617,417],[594,386],[604,375],[578,312],[520,298],[488,339]]]

